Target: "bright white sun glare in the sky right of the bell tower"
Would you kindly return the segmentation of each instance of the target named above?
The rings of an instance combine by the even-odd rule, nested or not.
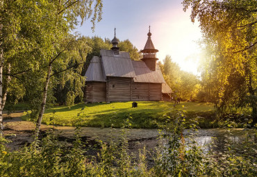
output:
[[[163,19],[154,23],[153,42],[159,49],[158,58],[172,57],[183,71],[198,74],[199,45],[201,39],[199,22],[190,22],[190,13],[183,10],[164,11]],[[158,26],[158,27],[155,27]]]

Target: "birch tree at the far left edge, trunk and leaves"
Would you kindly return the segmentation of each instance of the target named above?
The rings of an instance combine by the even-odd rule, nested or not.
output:
[[[17,35],[22,22],[20,5],[21,1],[0,1],[0,136],[3,135],[3,108],[10,91],[11,69],[18,66],[13,58],[25,51],[24,39]]]

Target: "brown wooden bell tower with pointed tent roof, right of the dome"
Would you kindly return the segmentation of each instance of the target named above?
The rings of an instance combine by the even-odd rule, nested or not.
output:
[[[148,39],[147,43],[144,46],[144,50],[141,52],[143,53],[143,58],[141,59],[151,71],[156,70],[156,61],[158,58],[156,58],[156,53],[158,52],[157,49],[154,48],[154,44],[151,41],[151,32],[150,32],[150,26],[149,26],[149,33],[147,33]]]

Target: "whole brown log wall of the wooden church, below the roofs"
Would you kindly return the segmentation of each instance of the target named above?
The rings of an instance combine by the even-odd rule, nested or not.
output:
[[[134,83],[133,78],[108,77],[107,82],[86,82],[85,102],[160,101],[161,83]]]

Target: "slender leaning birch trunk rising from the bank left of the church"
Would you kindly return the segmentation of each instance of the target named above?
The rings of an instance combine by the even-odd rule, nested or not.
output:
[[[37,125],[35,128],[35,138],[38,138],[38,135],[40,132],[40,126],[41,126],[41,122],[42,122],[42,117],[44,115],[44,108],[47,103],[47,88],[48,88],[49,81],[50,81],[51,70],[52,70],[52,64],[50,62],[49,67],[48,67],[48,72],[47,72],[47,78],[44,83],[44,92],[43,92],[43,96],[42,96],[41,110],[40,110],[40,114],[38,115],[38,121],[37,121]]]

